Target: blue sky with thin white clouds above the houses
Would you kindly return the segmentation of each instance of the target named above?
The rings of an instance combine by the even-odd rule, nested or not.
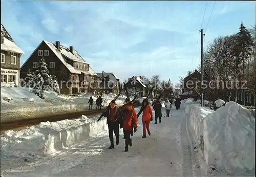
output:
[[[7,1],[2,24],[23,49],[22,65],[41,40],[74,49],[95,72],[177,82],[200,63],[200,39],[214,1]],[[216,2],[205,47],[215,37],[255,25],[255,2]],[[195,54],[195,57],[193,58]]]

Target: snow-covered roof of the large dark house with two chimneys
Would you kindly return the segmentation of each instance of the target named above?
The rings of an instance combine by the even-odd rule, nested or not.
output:
[[[83,70],[78,70],[78,69],[75,69],[71,64],[67,63],[65,61],[65,59],[63,58],[62,55],[65,55],[66,57],[70,58],[71,60],[74,60],[74,61],[78,61],[78,62],[82,62],[82,63],[87,63],[89,64],[88,62],[84,61],[82,59],[82,57],[74,50],[74,55],[71,53],[71,52],[68,52],[65,48],[66,47],[63,47],[63,46],[60,46],[60,48],[62,48],[61,51],[58,51],[57,48],[55,47],[54,43],[52,42],[48,42],[48,41],[45,41],[44,42],[47,44],[47,46],[54,52],[54,54],[59,58],[59,60],[67,67],[67,69],[71,72],[71,73],[74,73],[74,74],[81,74],[81,73],[84,73],[84,74],[89,74],[89,75],[97,75],[93,70],[92,68],[90,67],[89,65],[89,71],[83,71]],[[66,52],[64,52],[66,51]]]

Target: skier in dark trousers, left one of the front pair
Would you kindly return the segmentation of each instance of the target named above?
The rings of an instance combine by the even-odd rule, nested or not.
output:
[[[120,109],[116,107],[116,102],[111,101],[110,102],[110,109],[109,112],[105,112],[103,114],[104,117],[106,117],[106,124],[109,126],[109,138],[110,138],[110,147],[109,149],[114,148],[114,137],[113,132],[116,136],[116,145],[119,144],[119,122],[115,120],[118,118],[120,113]]]

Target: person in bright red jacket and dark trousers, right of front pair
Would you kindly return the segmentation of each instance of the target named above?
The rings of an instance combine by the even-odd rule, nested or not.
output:
[[[124,151],[128,151],[128,145],[132,146],[131,134],[136,132],[138,127],[138,118],[134,110],[133,104],[128,102],[123,110],[123,132],[125,137]]]

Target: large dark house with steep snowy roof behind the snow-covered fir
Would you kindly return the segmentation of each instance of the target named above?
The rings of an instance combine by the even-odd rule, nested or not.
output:
[[[20,68],[20,78],[25,78],[28,70],[35,72],[38,61],[45,59],[50,75],[57,77],[61,94],[88,93],[96,89],[97,74],[92,70],[73,46],[69,48],[42,40],[34,52]]]

